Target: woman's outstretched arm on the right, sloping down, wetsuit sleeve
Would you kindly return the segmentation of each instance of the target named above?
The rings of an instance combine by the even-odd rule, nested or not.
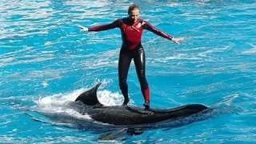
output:
[[[158,34],[159,36],[162,36],[163,38],[169,39],[177,44],[179,44],[180,41],[182,41],[184,38],[174,38],[173,36],[170,36],[169,34],[166,34],[165,32],[158,30],[156,27],[152,26],[149,22],[143,21],[143,28],[146,30],[150,30],[154,34]]]

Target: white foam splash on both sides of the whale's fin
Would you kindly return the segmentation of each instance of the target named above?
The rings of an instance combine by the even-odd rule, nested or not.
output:
[[[73,118],[91,119],[89,115],[83,115],[78,111],[72,109],[68,104],[74,102],[79,94],[86,91],[86,89],[74,90],[68,94],[54,94],[39,98],[38,110],[46,114],[65,114]],[[118,106],[122,104],[122,94],[113,93],[109,90],[102,90],[97,92],[98,100],[105,106]]]

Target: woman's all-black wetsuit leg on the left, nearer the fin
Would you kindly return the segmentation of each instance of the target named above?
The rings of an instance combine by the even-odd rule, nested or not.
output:
[[[130,62],[132,59],[132,54],[127,50],[120,50],[119,62],[118,62],[118,79],[119,86],[122,91],[122,95],[124,96],[124,102],[122,105],[127,105],[129,102],[128,97],[128,85],[127,85],[127,74],[130,67]]]

